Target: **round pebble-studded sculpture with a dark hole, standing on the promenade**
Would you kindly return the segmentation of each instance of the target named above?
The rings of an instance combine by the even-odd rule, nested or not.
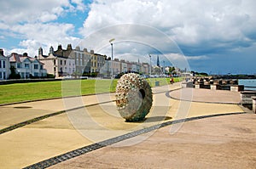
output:
[[[121,76],[116,87],[116,106],[126,121],[142,121],[152,106],[148,82],[135,73]]]

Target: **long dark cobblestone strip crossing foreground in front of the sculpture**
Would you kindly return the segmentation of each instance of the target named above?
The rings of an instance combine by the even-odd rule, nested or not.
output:
[[[245,114],[244,112],[235,112],[235,113],[226,113],[226,114],[218,114],[218,115],[202,115],[202,116],[197,116],[197,117],[190,117],[190,118],[186,118],[186,119],[180,119],[180,120],[176,120],[176,121],[167,121],[167,122],[163,122],[161,124],[157,124],[154,125],[152,127],[147,127],[147,128],[143,128],[141,130],[137,130],[135,132],[129,132],[126,133],[124,135],[115,137],[115,138],[110,138],[107,140],[104,140],[102,142],[96,143],[96,144],[90,144],[88,146],[84,146],[80,149],[75,149],[73,151],[67,152],[63,155],[57,155],[55,157],[49,158],[48,160],[45,161],[40,161],[38,163],[33,164],[32,166],[26,166],[24,169],[34,169],[34,168],[47,168],[49,166],[54,166],[62,161],[67,161],[69,159],[72,159],[74,157],[77,157],[79,155],[84,155],[90,151],[96,150],[96,149],[101,149],[103,147],[106,147],[108,145],[111,144],[115,144],[118,143],[120,141],[123,141],[125,139],[128,138],[133,138],[136,137],[140,134],[146,133],[146,132],[151,132],[154,130],[157,130],[161,127],[166,127],[172,124],[177,124],[177,123],[181,123],[181,122],[185,122],[185,121],[195,121],[195,120],[199,120],[199,119],[204,119],[204,118],[209,118],[209,117],[215,117],[215,116],[222,116],[222,115],[239,115],[239,114]]]

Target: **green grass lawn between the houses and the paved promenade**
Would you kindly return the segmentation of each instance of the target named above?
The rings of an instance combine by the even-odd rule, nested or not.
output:
[[[147,79],[151,87],[155,82],[160,86],[169,83],[170,78]],[[180,79],[175,78],[175,82]],[[0,85],[0,104],[26,100],[52,99],[67,96],[79,96],[93,93],[114,92],[118,80],[68,80],[56,82],[27,82]]]

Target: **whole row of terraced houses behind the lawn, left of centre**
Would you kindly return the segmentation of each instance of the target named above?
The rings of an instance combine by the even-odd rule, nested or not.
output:
[[[5,56],[3,49],[0,49],[0,80],[9,79],[11,67],[14,67],[20,78],[24,79],[47,75],[59,78],[83,74],[110,77],[111,69],[113,75],[128,71],[148,74],[150,70],[148,63],[129,62],[124,59],[111,60],[106,55],[94,53],[94,50],[72,48],[71,44],[68,44],[66,49],[61,45],[57,50],[50,47],[47,55],[44,54],[43,48],[38,48],[38,56],[35,57],[30,57],[26,53]]]

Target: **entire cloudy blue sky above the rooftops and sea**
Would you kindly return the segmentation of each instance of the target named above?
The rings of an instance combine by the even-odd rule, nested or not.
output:
[[[254,0],[9,0],[0,2],[4,54],[93,49],[113,58],[208,74],[256,74]]]

